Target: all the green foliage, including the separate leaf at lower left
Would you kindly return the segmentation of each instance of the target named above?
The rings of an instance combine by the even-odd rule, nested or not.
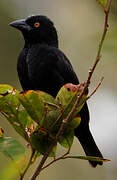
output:
[[[66,84],[54,99],[42,91],[19,92],[9,85],[0,85],[0,112],[32,149],[32,156],[27,167],[39,155],[48,152],[63,120],[68,118],[70,112],[72,114],[69,117],[69,123],[48,156],[56,156],[57,143],[64,148],[71,148],[74,129],[81,121],[79,112],[88,95],[88,91],[86,91],[74,108],[83,88],[84,84]],[[2,128],[0,128],[0,152],[14,161],[19,157],[25,157],[24,147],[15,139],[4,137]],[[76,158],[78,159],[78,156]],[[80,157],[80,159],[89,160],[90,157]],[[97,161],[103,160],[97,159]],[[24,174],[25,171],[23,174],[21,173],[21,177]]]

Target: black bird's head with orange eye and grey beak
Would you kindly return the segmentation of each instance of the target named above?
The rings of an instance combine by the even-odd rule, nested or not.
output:
[[[27,19],[11,22],[10,26],[20,30],[27,43],[46,43],[58,46],[56,28],[46,16],[32,15]]]

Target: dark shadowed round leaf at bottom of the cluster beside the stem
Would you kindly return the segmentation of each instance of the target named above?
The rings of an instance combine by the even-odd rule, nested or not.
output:
[[[31,135],[31,144],[35,150],[39,153],[44,154],[48,151],[50,145],[52,144],[52,139],[48,137],[47,132],[44,129],[39,129]],[[56,146],[54,146],[52,152],[49,154],[50,157],[55,157]]]

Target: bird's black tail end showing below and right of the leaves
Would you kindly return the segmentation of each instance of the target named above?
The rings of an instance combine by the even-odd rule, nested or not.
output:
[[[89,129],[89,110],[87,103],[85,103],[83,108],[81,109],[80,116],[81,116],[81,123],[75,129],[75,136],[80,141],[80,144],[82,145],[86,156],[103,158]],[[89,163],[92,165],[92,167],[96,167],[97,165],[103,164],[103,162],[97,162],[97,161],[89,161]]]

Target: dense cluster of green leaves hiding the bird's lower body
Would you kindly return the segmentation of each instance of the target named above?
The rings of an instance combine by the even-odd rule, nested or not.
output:
[[[77,86],[76,86],[77,87]],[[80,86],[78,86],[80,87]],[[73,108],[81,89],[69,91],[63,86],[57,97],[41,91],[18,92],[9,85],[0,85],[0,111],[13,128],[38,151],[44,154],[56,136],[61,122]],[[70,148],[74,138],[74,128],[80,123],[78,115],[87,94],[79,102],[70,123],[59,139],[59,143]],[[56,146],[50,156],[56,155]]]

